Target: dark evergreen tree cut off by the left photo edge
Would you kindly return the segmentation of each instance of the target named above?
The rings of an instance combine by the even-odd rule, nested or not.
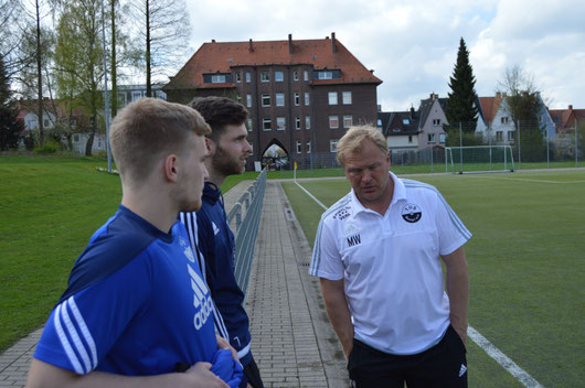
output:
[[[0,55],[0,151],[18,148],[19,146],[19,137],[23,125],[17,120],[17,116],[18,109],[11,98],[4,61],[2,55]]]

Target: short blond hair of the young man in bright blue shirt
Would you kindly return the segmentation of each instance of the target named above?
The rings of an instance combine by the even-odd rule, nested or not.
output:
[[[120,175],[139,182],[152,172],[158,157],[187,151],[189,133],[210,132],[196,110],[158,98],[141,98],[114,118],[109,141]]]

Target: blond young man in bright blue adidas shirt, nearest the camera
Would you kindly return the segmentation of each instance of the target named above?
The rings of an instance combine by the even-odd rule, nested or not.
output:
[[[152,98],[114,119],[121,204],[75,262],[26,387],[240,385],[241,366],[216,340],[211,294],[177,222],[201,207],[209,131],[193,109]]]

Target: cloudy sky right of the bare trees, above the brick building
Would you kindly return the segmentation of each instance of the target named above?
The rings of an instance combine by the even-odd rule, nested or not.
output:
[[[187,0],[191,47],[323,39],[331,32],[374,75],[383,111],[447,97],[459,39],[480,97],[520,66],[551,109],[585,109],[584,0]]]

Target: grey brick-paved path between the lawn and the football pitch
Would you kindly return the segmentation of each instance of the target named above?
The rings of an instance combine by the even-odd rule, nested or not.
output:
[[[226,212],[253,181],[224,195]],[[347,388],[345,360],[327,319],[311,250],[279,183],[268,181],[246,298],[252,352],[265,387]],[[42,328],[0,354],[0,387],[21,388]]]

